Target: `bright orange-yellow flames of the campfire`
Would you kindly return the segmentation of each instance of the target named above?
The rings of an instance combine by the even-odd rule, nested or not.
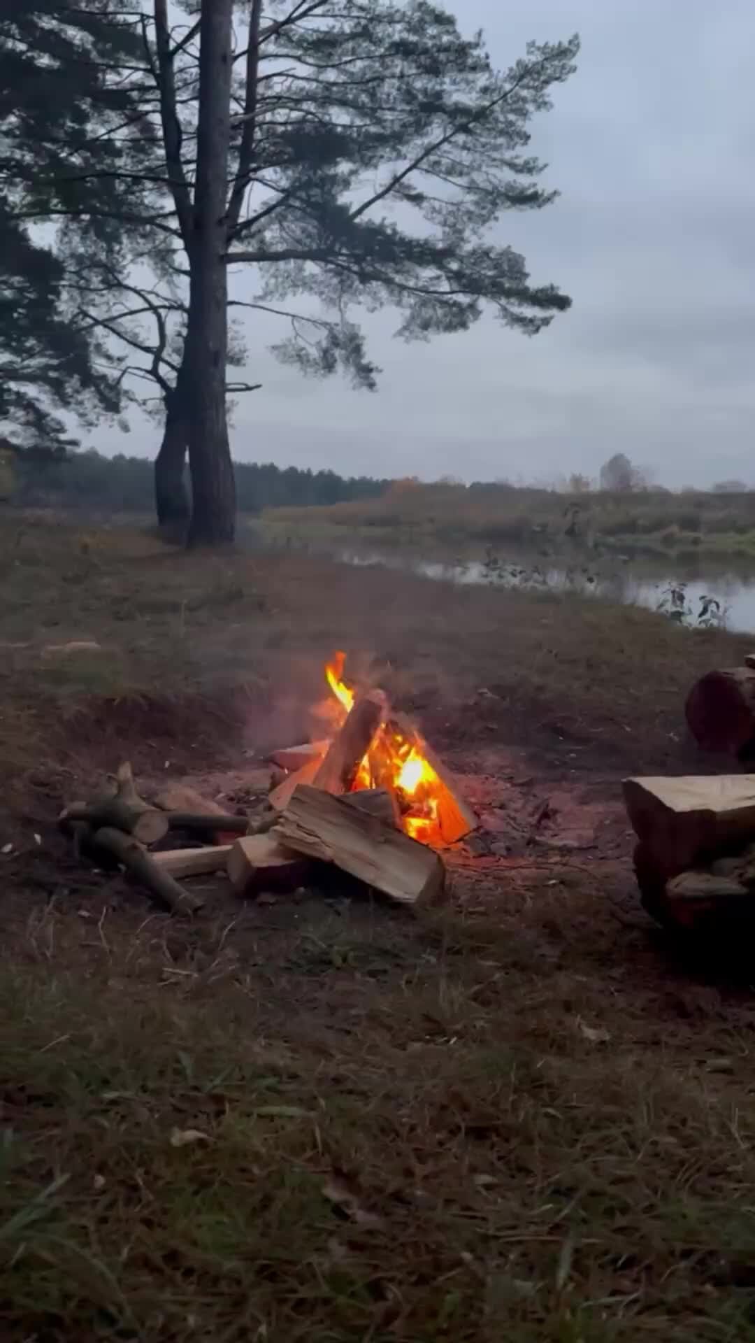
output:
[[[355,693],[344,682],[345,655],[336,653],[325,666],[325,680],[345,713]],[[345,714],[344,714],[345,717]],[[403,829],[412,839],[441,843],[438,804],[443,791],[431,764],[396,724],[383,724],[372,749],[359,767],[355,788],[390,788],[396,796]]]

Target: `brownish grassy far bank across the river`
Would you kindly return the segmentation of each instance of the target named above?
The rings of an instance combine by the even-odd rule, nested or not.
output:
[[[344,529],[404,543],[556,547],[658,556],[755,559],[755,493],[562,494],[489,485],[411,485],[328,508],[270,509],[271,525],[312,533]]]

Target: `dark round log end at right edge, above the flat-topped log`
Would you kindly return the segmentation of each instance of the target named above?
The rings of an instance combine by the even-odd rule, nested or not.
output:
[[[739,755],[755,739],[755,669],[708,672],[686,697],[689,731],[704,751]]]

